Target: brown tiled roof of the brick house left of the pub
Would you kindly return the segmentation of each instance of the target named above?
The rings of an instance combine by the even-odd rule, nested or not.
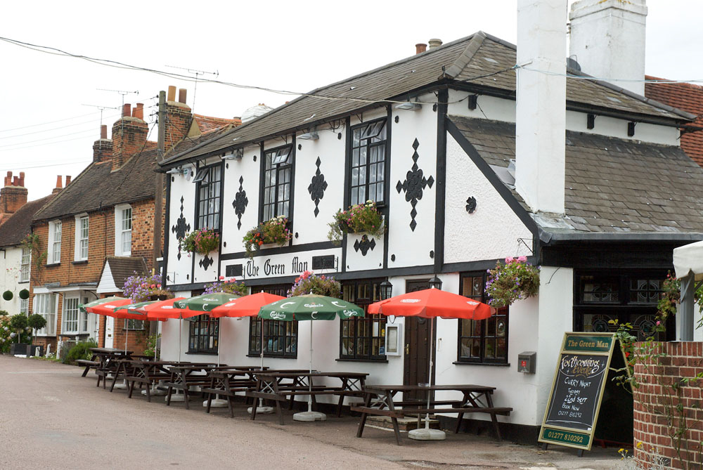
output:
[[[214,125],[217,118],[203,117]],[[197,119],[197,118],[196,118]],[[222,119],[222,127],[203,133],[195,138],[184,138],[174,152],[183,152],[202,141],[219,135],[228,129],[231,119]],[[46,220],[96,211],[101,208],[128,202],[153,199],[155,192],[155,170],[157,169],[155,142],[147,142],[143,152],[131,157],[115,171],[112,162],[91,163],[50,204],[34,214],[34,220]]]

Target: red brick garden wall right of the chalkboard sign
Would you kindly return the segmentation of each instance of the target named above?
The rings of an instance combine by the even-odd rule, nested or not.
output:
[[[703,372],[703,343],[655,343],[666,354],[657,363],[638,363],[635,378],[640,387],[634,392],[634,455],[639,468],[702,468],[703,381],[681,384],[681,378]],[[638,344],[642,346],[643,344]],[[671,385],[675,388],[672,389]],[[678,391],[676,384],[681,384]],[[666,404],[669,404],[668,406]],[[691,427],[681,443],[681,459],[670,435],[678,431],[683,419],[676,411],[681,405],[686,425]],[[673,414],[671,426],[669,417]],[[688,451],[687,451],[688,445]],[[669,462],[670,460],[670,462]]]

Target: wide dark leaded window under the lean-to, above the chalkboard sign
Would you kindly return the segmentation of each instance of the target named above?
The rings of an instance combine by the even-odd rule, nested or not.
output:
[[[616,332],[632,325],[631,334],[645,341],[657,325],[657,303],[662,296],[666,270],[577,271],[574,275],[574,331]],[[673,320],[657,341],[674,339]]]

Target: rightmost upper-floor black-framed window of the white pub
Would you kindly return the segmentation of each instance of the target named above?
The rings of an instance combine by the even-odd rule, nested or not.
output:
[[[352,126],[349,204],[384,202],[386,119]]]

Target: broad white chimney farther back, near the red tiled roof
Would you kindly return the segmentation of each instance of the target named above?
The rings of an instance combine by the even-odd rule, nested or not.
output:
[[[645,0],[579,0],[569,20],[569,56],[581,70],[604,79],[645,78]],[[610,81],[610,80],[609,80]],[[643,81],[611,81],[642,96]]]

